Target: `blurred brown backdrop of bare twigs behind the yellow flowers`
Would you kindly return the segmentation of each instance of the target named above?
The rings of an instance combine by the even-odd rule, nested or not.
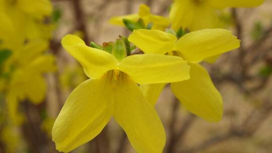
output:
[[[7,85],[13,82],[11,80],[0,82],[0,87],[9,87],[0,88],[0,152],[57,152],[51,140],[54,119],[72,90],[87,80],[79,63],[61,47],[63,36],[76,34],[85,42],[97,44],[114,41],[118,35],[128,36],[129,31],[108,24],[112,16],[137,13],[139,6],[146,4],[152,13],[167,17],[171,3],[169,0],[53,0],[50,15],[46,19],[35,17],[35,22],[42,20],[46,26],[47,31],[40,28],[48,34],[46,38],[46,34],[42,35],[47,42],[46,55],[52,55],[56,65],[42,73],[47,88],[41,87],[46,92],[42,101],[37,103],[31,102],[28,96],[17,94],[18,103],[9,106],[7,101],[12,101],[13,97],[9,98],[9,94],[18,91],[7,91],[18,89],[20,85]],[[167,86],[156,105],[167,133],[164,152],[250,153],[272,150],[272,1],[266,0],[256,8],[226,9],[224,12],[222,20],[242,40],[241,48],[222,55],[214,64],[202,63],[223,96],[223,119],[211,123],[190,114],[180,106]],[[1,54],[0,61],[2,58],[4,61],[7,54]],[[24,58],[23,55],[19,57]],[[4,75],[5,68],[1,70]],[[34,84],[34,80],[31,79],[30,83]],[[24,84],[23,87],[28,86]],[[35,101],[35,96],[33,99]],[[95,139],[72,152],[135,151],[122,129],[111,120]]]

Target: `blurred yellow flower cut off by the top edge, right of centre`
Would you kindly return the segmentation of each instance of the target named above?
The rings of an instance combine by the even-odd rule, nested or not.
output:
[[[190,31],[219,28],[220,9],[255,7],[263,2],[264,0],[175,0],[170,11],[171,26],[175,31],[180,27]]]

